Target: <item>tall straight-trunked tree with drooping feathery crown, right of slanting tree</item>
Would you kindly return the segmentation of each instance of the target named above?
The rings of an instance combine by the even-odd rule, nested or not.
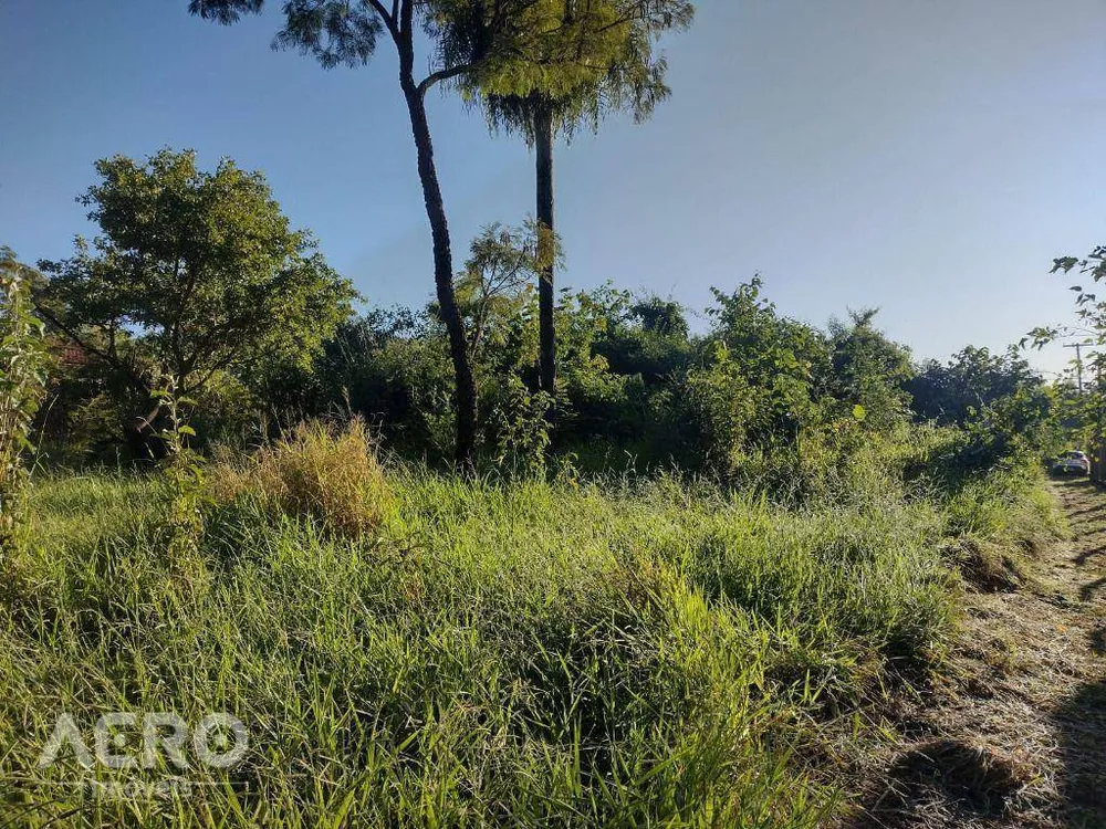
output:
[[[525,62],[489,61],[468,73],[469,94],[480,97],[492,127],[521,135],[535,150],[541,239],[552,238],[556,227],[555,138],[571,138],[585,124],[597,129],[614,111],[646,119],[670,94],[667,63],[655,54],[655,41],[690,25],[693,13],[688,0],[545,0],[534,3],[530,22],[555,36],[532,39]],[[541,387],[549,395],[556,387],[554,281],[555,260],[546,255],[539,279],[539,328]]]

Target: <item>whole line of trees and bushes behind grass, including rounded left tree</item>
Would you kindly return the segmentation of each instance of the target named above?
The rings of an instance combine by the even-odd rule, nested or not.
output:
[[[348,283],[290,230],[260,175],[229,161],[205,174],[192,154],[164,150],[98,169],[83,200],[104,235],[46,263],[38,297],[59,344],[81,355],[60,365],[43,422],[52,441],[111,458],[114,420],[133,457],[173,454],[158,436],[168,407],[150,410],[149,378],[161,377],[197,401],[196,448],[344,412],[405,454],[452,453],[456,355],[436,304],[346,319]],[[920,416],[964,430],[950,469],[985,471],[1046,440],[1054,397],[1024,360],[969,348],[911,378],[908,350],[875,312],[823,332],[778,314],[759,277],[716,291],[698,336],[670,300],[562,293],[555,396],[539,395],[532,285],[559,258],[534,222],[493,224],[451,283],[486,468],[535,472],[552,451],[585,470],[677,465],[810,497],[866,469],[866,453],[897,451],[905,389]]]

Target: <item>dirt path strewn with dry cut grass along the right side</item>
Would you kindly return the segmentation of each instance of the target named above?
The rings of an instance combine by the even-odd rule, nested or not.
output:
[[[971,594],[950,680],[907,722],[860,825],[1106,829],[1106,493],[1054,485],[1073,539]]]

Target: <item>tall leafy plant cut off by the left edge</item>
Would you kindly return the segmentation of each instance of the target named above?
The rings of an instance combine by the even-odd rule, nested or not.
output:
[[[0,248],[0,556],[13,549],[24,517],[31,424],[45,389],[42,321],[31,303],[31,269]]]

